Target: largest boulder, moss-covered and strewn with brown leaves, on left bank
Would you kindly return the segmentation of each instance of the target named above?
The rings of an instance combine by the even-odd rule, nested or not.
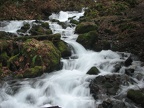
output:
[[[0,40],[1,77],[36,77],[56,70],[61,53],[51,41],[27,39],[23,42]]]

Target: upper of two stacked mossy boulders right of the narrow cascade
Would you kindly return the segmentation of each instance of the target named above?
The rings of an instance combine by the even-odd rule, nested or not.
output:
[[[98,26],[93,22],[82,22],[77,25],[75,32],[78,34],[88,33],[97,30]]]

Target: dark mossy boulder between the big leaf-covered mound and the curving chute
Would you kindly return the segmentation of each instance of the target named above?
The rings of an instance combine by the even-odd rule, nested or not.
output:
[[[54,43],[54,45],[58,48],[58,50],[61,52],[62,57],[69,57],[71,56],[70,48],[68,48],[67,43],[60,40]]]

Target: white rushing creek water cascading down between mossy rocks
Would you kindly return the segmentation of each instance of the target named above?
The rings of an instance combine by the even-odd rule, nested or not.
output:
[[[49,19],[57,19],[60,22],[66,22],[69,26],[63,29],[56,22],[51,22],[50,28],[53,33],[60,33],[71,48],[72,55],[69,58],[62,58],[63,67],[59,71],[45,73],[40,77],[32,79],[23,79],[20,81],[5,82],[0,88],[0,108],[46,108],[49,106],[60,106],[62,108],[97,108],[101,100],[95,101],[90,94],[89,84],[97,76],[123,74],[123,68],[120,73],[113,73],[113,66],[116,62],[124,61],[127,56],[121,59],[121,54],[111,50],[94,52],[86,50],[82,45],[76,42],[78,37],[75,34],[75,26],[69,23],[69,18],[74,17],[78,20],[84,12],[63,12],[52,14]],[[24,21],[3,22],[5,25],[0,27],[0,31],[16,33],[23,25]],[[28,21],[32,24],[33,20]],[[103,68],[100,68],[101,65]],[[140,62],[133,62],[137,65],[138,71],[144,70],[139,66]],[[86,74],[91,67],[97,67],[100,70],[98,75]],[[136,80],[136,84],[121,86],[120,94],[124,94],[129,88],[143,88],[143,78]],[[134,107],[136,108],[136,107]]]

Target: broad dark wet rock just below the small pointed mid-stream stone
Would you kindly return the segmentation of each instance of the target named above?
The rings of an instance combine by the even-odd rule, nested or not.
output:
[[[120,86],[128,86],[136,82],[127,75],[97,76],[90,82],[90,93],[94,99],[103,99],[108,96],[116,96]]]

